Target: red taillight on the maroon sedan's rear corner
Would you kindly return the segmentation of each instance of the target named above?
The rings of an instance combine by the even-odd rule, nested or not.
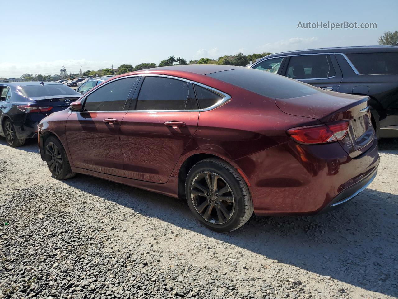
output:
[[[300,144],[320,144],[342,140],[348,132],[349,120],[287,130],[287,134]]]

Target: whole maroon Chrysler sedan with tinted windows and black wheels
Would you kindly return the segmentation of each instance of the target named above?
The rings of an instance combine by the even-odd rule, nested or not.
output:
[[[39,124],[56,179],[83,173],[186,198],[205,226],[342,205],[379,163],[369,97],[226,65],[113,77]]]

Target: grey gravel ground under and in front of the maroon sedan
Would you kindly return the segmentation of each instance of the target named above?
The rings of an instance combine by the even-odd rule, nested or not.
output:
[[[178,199],[57,181],[35,140],[0,138],[0,299],[397,297],[398,140],[379,149],[375,181],[343,208],[219,234]]]

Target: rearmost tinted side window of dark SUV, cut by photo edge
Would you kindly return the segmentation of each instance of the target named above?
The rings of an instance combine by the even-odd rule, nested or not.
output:
[[[361,75],[398,74],[398,52],[347,54]]]

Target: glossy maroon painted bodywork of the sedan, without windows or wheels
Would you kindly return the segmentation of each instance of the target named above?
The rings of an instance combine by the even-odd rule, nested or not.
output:
[[[39,135],[53,132],[59,137],[72,171],[172,197],[178,197],[178,176],[184,161],[196,154],[220,157],[241,173],[249,187],[254,212],[259,215],[320,212],[343,191],[376,172],[379,157],[374,138],[354,155],[339,142],[302,145],[286,134],[289,128],[357,113],[358,108],[366,107],[363,97],[341,94],[339,98],[338,93],[325,92],[308,96],[300,103],[297,99],[275,103],[274,98],[205,76],[212,68],[215,67],[206,66],[200,71],[188,67],[185,71],[158,68],[108,81],[133,74],[195,81],[231,96],[229,102],[213,110],[101,112],[89,119],[84,116],[88,112],[65,110],[45,118],[39,125]],[[329,106],[327,101],[331,102]],[[308,108],[310,105],[312,108]],[[117,118],[119,122],[104,124],[106,118]],[[165,126],[168,121],[184,122],[186,126]],[[373,132],[371,127],[367,129]],[[40,148],[44,159],[42,141]]]

